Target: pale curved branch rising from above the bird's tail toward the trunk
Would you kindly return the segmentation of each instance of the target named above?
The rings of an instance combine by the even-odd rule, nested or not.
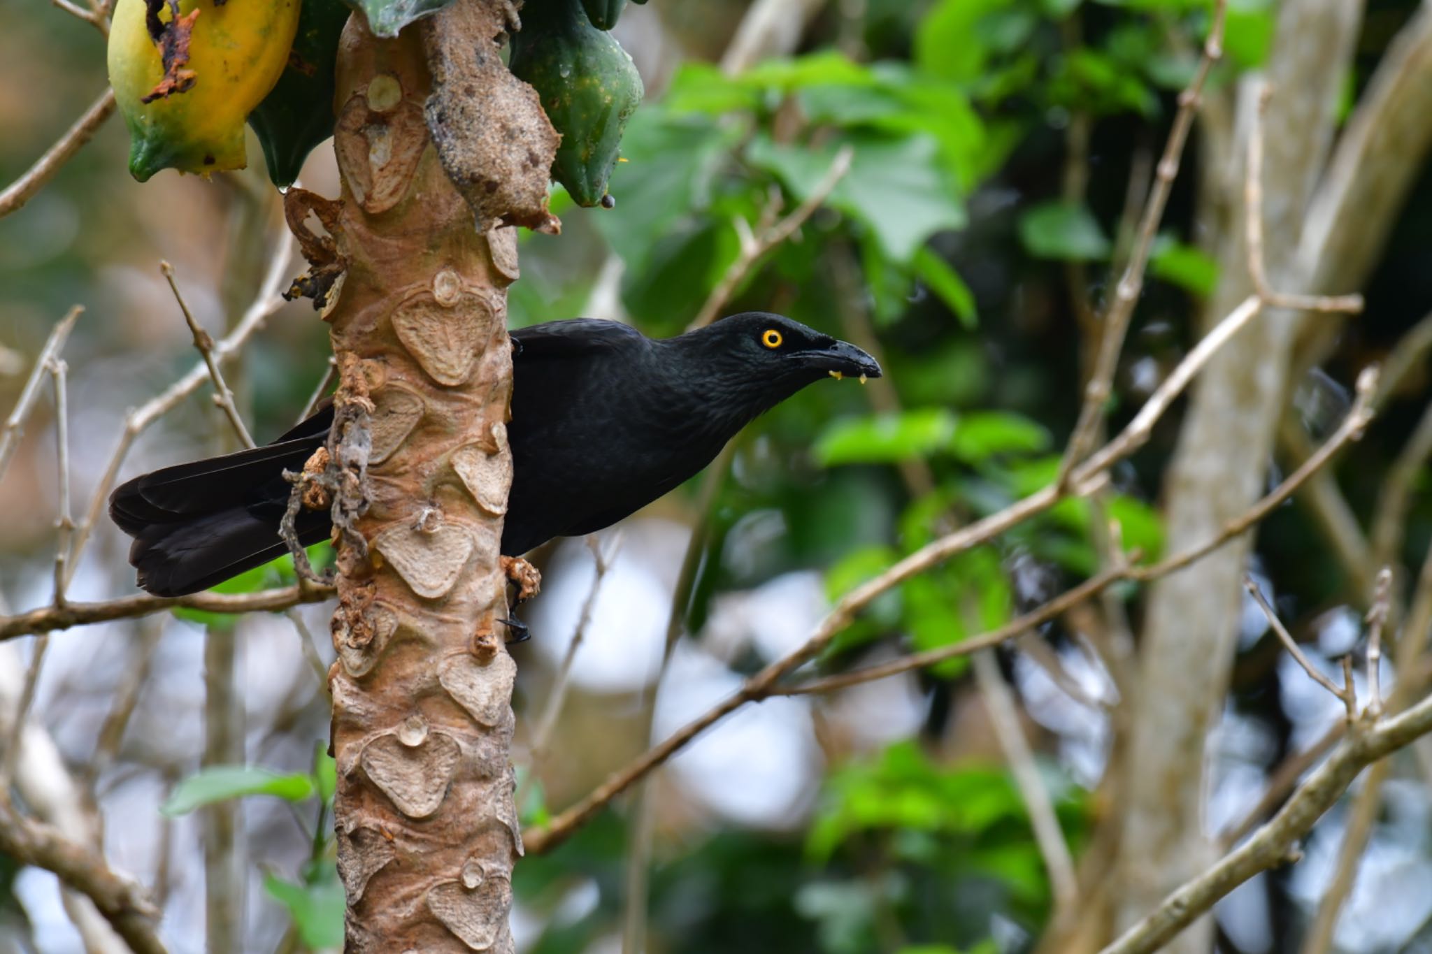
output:
[[[233,330],[225,335],[223,339],[213,346],[213,358],[216,363],[223,365],[223,362],[233,358],[243,348],[243,345],[248,343],[253,332],[263,326],[268,316],[284,306],[284,297],[279,295],[279,287],[282,286],[284,273],[288,267],[292,243],[294,240],[288,233],[284,233],[284,236],[278,239],[274,249],[274,257],[269,260],[268,272],[263,275],[263,282],[259,285],[259,292],[253,297],[253,303],[249,305],[243,318],[241,318],[233,326]],[[74,566],[79,565],[80,554],[84,551],[84,545],[89,542],[90,533],[95,531],[100,515],[105,512],[105,502],[109,499],[109,491],[115,485],[115,479],[119,476],[119,468],[125,463],[125,456],[129,453],[129,448],[133,446],[135,438],[137,438],[155,421],[169,413],[169,410],[176,408],[180,400],[192,395],[205,380],[209,379],[208,366],[205,362],[199,362],[189,369],[189,373],[176,380],[162,393],[150,398],[140,408],[130,410],[125,416],[125,428],[119,435],[119,443],[115,446],[115,452],[110,455],[109,463],[105,466],[103,476],[100,476],[99,483],[95,486],[95,495],[90,498],[89,509],[84,513],[84,522],[80,523],[74,536],[74,548],[70,552],[67,569],[72,579],[74,576]]]

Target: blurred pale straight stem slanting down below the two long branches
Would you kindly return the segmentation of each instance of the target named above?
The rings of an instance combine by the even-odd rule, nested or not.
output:
[[[990,724],[1004,749],[1010,772],[1014,775],[1020,795],[1030,810],[1030,824],[1034,828],[1034,840],[1040,845],[1040,855],[1050,874],[1050,885],[1054,890],[1055,911],[1067,911],[1078,904],[1078,880],[1074,877],[1074,858],[1070,855],[1068,842],[1060,828],[1058,817],[1054,814],[1054,802],[1050,791],[1040,777],[1040,767],[1034,764],[1034,752],[1030,751],[1030,741],[1024,738],[1024,728],[1020,725],[1020,709],[1015,705],[1014,694],[1000,675],[1000,664],[995,662],[994,651],[984,649],[971,658],[975,682],[979,687],[979,697],[984,701],[985,712],[990,714]]]

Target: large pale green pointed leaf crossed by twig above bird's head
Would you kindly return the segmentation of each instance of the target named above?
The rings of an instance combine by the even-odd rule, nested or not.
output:
[[[865,223],[881,250],[899,265],[909,265],[935,232],[965,225],[965,209],[941,162],[939,143],[929,134],[885,137],[855,134],[851,170],[835,186],[828,203]],[[825,177],[841,147],[778,144],[765,133],[746,149],[756,166],[775,173],[798,199],[808,199]]]

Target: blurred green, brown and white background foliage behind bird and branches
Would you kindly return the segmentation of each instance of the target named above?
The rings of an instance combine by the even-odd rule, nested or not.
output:
[[[1413,7],[1412,0],[1369,4],[1358,67],[1346,79],[1349,103]],[[564,807],[699,711],[702,699],[729,689],[736,675],[798,644],[825,601],[941,526],[992,512],[1053,479],[1090,360],[1081,329],[1127,255],[1131,210],[1197,62],[1210,4],[839,0],[821,9],[790,56],[727,76],[713,63],[743,10],[739,0],[652,0],[627,9],[617,36],[644,74],[647,102],[623,142],[624,162],[611,183],[616,207],[580,210],[558,189],[553,207],[563,235],[523,236],[511,325],[596,315],[630,320],[649,335],[679,333],[740,253],[739,223],[789,212],[849,146],[849,173],[825,207],[760,259],[727,310],[776,310],[869,345],[886,378],[865,389],[832,382],[802,392],[739,438],[729,473],[710,475],[719,486],[705,512],[699,479],[624,529],[550,751],[523,765],[527,821]],[[1263,63],[1273,17],[1269,1],[1233,4],[1227,57],[1213,86]],[[86,24],[32,0],[0,0],[0,72],[9,80],[0,83],[0,179],[10,180],[102,89],[103,43]],[[50,187],[0,219],[0,405],[13,402],[26,358],[53,320],[74,302],[89,309],[67,350],[79,495],[95,479],[87,471],[105,461],[123,408],[193,362],[158,259],[175,263],[195,312],[213,330],[256,275],[233,259],[245,210],[262,207],[263,183],[251,174],[262,162],[252,142],[248,173],[215,182],[165,173],[145,187],[129,180],[125,149],[122,126],[109,123]],[[324,152],[309,159],[302,182],[332,195],[335,173]],[[1197,160],[1196,136],[1187,162]],[[1219,279],[1211,250],[1200,246],[1191,182],[1184,176],[1174,186],[1116,382],[1113,425],[1196,338],[1193,316]],[[1422,182],[1366,289],[1366,315],[1349,326],[1337,356],[1303,382],[1300,408],[1312,436],[1346,408],[1356,368],[1386,350],[1432,299],[1429,213],[1432,190]],[[269,320],[242,372],[229,376],[256,436],[288,426],[322,376],[326,353],[325,329],[306,308],[289,306]],[[1425,372],[1411,378],[1406,393],[1425,393]],[[1418,412],[1415,402],[1395,400],[1343,459],[1337,478],[1359,512],[1370,509],[1376,488],[1368,475],[1386,471]],[[1157,475],[1176,428],[1171,415],[1116,472],[1113,515],[1124,546],[1146,559],[1161,548]],[[125,475],[206,452],[213,446],[206,435],[219,429],[205,400],[188,402],[146,435]],[[42,412],[0,488],[0,589],[17,609],[47,598],[50,473],[53,436]],[[1425,469],[1418,481],[1409,561],[1432,536]],[[1067,501],[909,581],[878,601],[819,665],[838,669],[895,648],[945,645],[1005,622],[1093,572],[1090,523],[1087,503]],[[705,526],[705,536],[692,598],[679,608],[690,635],[657,685],[674,569],[693,526]],[[115,536],[106,533],[90,552],[73,588],[77,598],[129,591]],[[530,762],[524,732],[541,711],[593,579],[590,556],[576,542],[543,562],[548,592],[526,611],[534,642],[516,648],[520,762]],[[1259,566],[1276,578],[1286,616],[1333,634],[1327,639],[1353,612],[1348,581],[1296,506],[1267,521]],[[261,588],[278,572],[232,586]],[[1123,598],[1137,614],[1134,594]],[[319,634],[322,615],[308,614]],[[251,691],[246,752],[266,769],[193,777],[202,708],[195,626],[233,622],[190,614],[162,624],[149,688],[120,758],[99,781],[100,805],[135,820],[132,831],[115,832],[110,814],[107,847],[146,881],[163,870],[166,931],[175,950],[199,950],[202,918],[176,904],[202,891],[198,835],[179,800],[188,792],[192,808],[246,795],[249,950],[332,947],[342,907],[321,834],[332,769],[312,759],[314,741],[326,738],[326,704],[282,618],[235,628]],[[95,626],[52,648],[37,711],[73,762],[87,757],[115,672],[127,665],[122,636],[135,631],[136,624]],[[1257,780],[1296,739],[1336,718],[1306,694],[1290,695],[1270,636],[1256,626],[1246,636],[1226,729],[1246,744],[1219,755],[1232,788],[1216,794],[1214,805],[1232,804],[1227,815],[1256,798]],[[1085,659],[1064,622],[1042,638],[1070,665]],[[1024,694],[1025,728],[1077,852],[1100,811],[1091,792],[1107,758],[1106,715],[1060,697],[1017,657],[1002,664]],[[1083,677],[1097,695],[1101,675],[1088,669]],[[679,758],[652,788],[649,950],[1030,950],[1051,914],[1051,888],[1018,790],[969,688],[967,662],[957,659],[831,699],[772,701]],[[284,804],[296,808],[298,827]],[[1415,875],[1398,898],[1419,891],[1432,898],[1426,815],[1425,804],[1405,800],[1383,820],[1385,837],[1405,841],[1412,832],[1416,845],[1388,855],[1382,874],[1373,872],[1375,885]],[[523,950],[620,950],[637,817],[630,802],[620,804],[553,854],[517,865]],[[169,834],[156,854],[162,832]],[[1302,871],[1260,878],[1257,903],[1223,905],[1221,950],[1295,950],[1326,864],[1323,874]],[[16,935],[33,933],[42,950],[72,950],[53,881],[4,870],[0,878],[4,917],[23,925]],[[27,920],[11,914],[21,910],[16,898]],[[1432,950],[1418,947],[1428,944],[1419,924],[1432,904],[1408,900],[1375,910],[1355,898],[1349,917],[1362,921],[1348,937],[1363,945],[1348,950]]]

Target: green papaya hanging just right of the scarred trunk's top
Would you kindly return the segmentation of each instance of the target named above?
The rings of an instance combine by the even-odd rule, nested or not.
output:
[[[579,206],[610,206],[621,132],[646,93],[632,57],[591,26],[583,0],[528,0],[508,66],[537,90],[561,133],[551,177]]]

